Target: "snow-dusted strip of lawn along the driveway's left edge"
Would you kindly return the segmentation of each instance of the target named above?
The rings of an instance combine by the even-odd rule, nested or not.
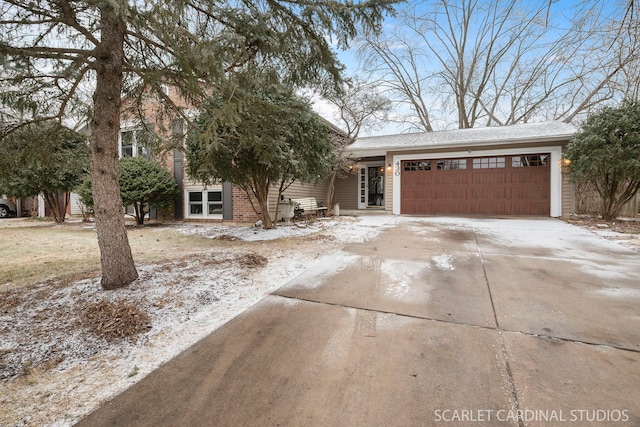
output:
[[[320,256],[375,237],[389,221],[327,218],[275,230],[177,225],[183,233],[256,245],[295,239],[139,265],[140,278],[119,290],[102,291],[91,278],[0,294],[0,425],[73,424]]]

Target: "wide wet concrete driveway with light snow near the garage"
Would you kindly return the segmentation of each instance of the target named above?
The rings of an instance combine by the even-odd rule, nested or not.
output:
[[[554,219],[384,222],[79,425],[640,425],[640,255]]]

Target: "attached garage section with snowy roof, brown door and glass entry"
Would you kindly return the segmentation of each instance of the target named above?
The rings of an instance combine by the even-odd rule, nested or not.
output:
[[[358,138],[335,201],[341,213],[566,216],[562,153],[575,132],[546,122]]]

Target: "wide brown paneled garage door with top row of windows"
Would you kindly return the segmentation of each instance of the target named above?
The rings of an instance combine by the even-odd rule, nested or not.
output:
[[[402,162],[407,214],[549,215],[549,154]]]

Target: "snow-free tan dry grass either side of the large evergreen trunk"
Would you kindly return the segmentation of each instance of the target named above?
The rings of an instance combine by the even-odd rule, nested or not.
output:
[[[130,227],[127,232],[137,263],[195,254],[221,244],[166,227]],[[94,277],[100,271],[96,231],[87,224],[0,221],[0,242],[1,291],[52,278]]]

